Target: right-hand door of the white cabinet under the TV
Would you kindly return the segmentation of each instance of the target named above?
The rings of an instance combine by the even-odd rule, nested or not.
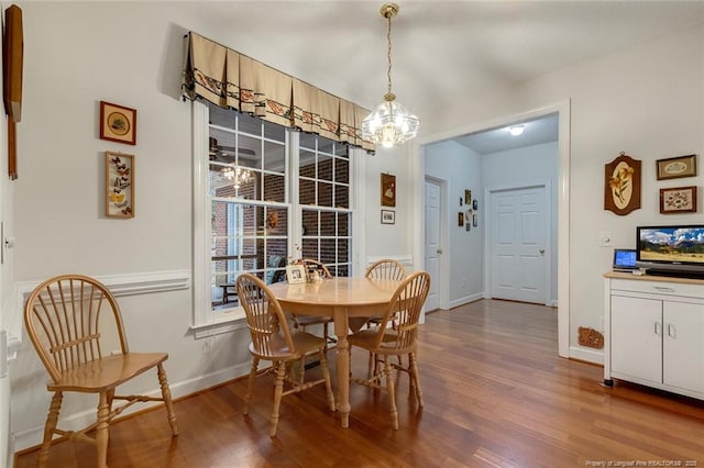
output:
[[[662,382],[704,392],[704,305],[663,303]]]

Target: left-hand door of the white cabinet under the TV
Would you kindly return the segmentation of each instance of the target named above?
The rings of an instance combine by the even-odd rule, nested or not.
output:
[[[662,382],[662,301],[612,296],[612,371]]]

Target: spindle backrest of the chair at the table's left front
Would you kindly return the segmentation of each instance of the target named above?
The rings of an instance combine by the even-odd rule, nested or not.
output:
[[[286,345],[290,354],[296,349],[282,307],[268,287],[252,274],[242,274],[235,282],[240,303],[246,314],[254,353],[272,357]]]

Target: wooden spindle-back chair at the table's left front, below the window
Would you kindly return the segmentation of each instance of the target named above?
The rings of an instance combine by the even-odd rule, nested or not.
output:
[[[237,282],[238,296],[246,314],[248,327],[252,336],[250,353],[252,354],[252,369],[244,397],[243,414],[248,414],[254,392],[254,379],[256,378],[260,360],[271,360],[276,372],[274,387],[274,409],[272,410],[270,436],[276,436],[278,426],[278,412],[282,397],[307,390],[319,383],[324,383],[328,394],[330,411],[336,410],[334,395],[330,383],[330,371],[326,356],[326,341],[319,336],[300,331],[290,331],[280,304],[268,287],[251,274],[240,275]],[[322,379],[305,381],[305,363],[307,355],[318,353]],[[287,366],[293,371],[298,364],[297,375],[287,372]],[[284,390],[284,383],[288,383],[288,390]]]

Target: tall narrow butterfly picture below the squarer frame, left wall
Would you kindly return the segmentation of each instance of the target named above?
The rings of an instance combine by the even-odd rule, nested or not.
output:
[[[106,216],[134,218],[134,156],[106,152]]]

